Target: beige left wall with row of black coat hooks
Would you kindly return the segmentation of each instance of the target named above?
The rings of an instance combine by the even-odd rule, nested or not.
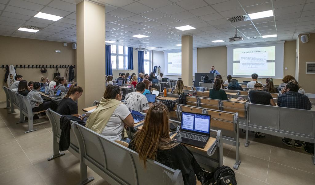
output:
[[[55,53],[60,50],[60,53]],[[3,78],[6,70],[2,65],[76,65],[76,50],[68,43],[64,47],[62,42],[45,41],[37,39],[25,39],[18,37],[0,36],[0,86],[3,87]],[[52,80],[55,69],[47,69],[45,74],[40,69],[20,69],[16,73],[23,76],[26,81],[39,81],[41,76],[47,76]],[[64,76],[66,69],[59,69],[60,75]],[[75,72],[76,74],[76,72]],[[0,102],[5,101],[3,90],[0,90]]]

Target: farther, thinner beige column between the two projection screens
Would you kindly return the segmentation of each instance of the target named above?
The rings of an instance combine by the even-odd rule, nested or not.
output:
[[[192,86],[192,36],[181,36],[181,79],[184,86]]]

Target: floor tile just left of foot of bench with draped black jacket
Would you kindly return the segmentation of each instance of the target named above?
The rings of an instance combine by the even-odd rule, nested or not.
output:
[[[48,142],[42,145],[38,145],[27,150],[24,150],[27,157],[31,162],[38,161],[43,158],[48,158],[53,154],[53,142]]]

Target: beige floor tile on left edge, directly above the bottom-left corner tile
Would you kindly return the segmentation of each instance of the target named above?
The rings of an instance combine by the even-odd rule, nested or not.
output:
[[[30,164],[24,152],[17,152],[0,158],[0,174]]]

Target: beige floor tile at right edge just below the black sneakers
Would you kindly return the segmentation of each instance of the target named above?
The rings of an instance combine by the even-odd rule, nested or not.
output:
[[[315,174],[311,155],[272,146],[270,161]]]

